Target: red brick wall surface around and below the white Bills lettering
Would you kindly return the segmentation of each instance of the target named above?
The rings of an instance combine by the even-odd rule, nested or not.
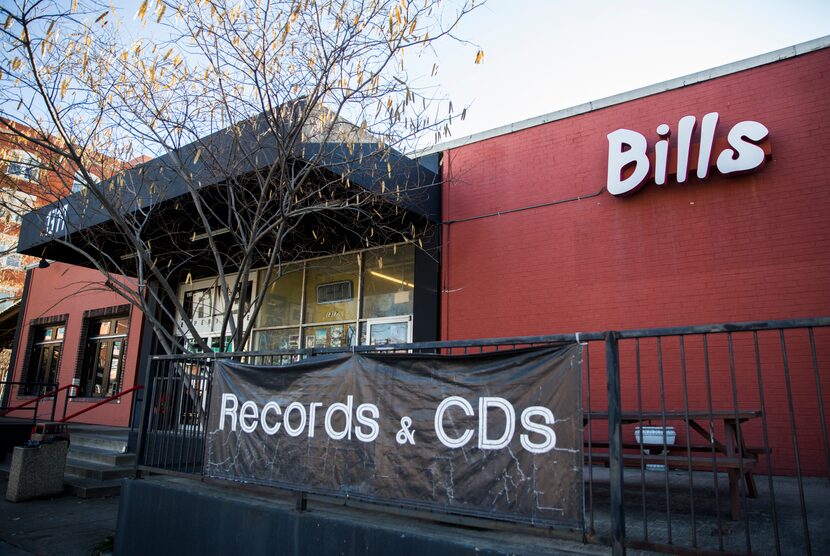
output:
[[[830,50],[823,50],[444,153],[442,337],[830,315],[828,77]],[[767,126],[773,152],[765,167],[731,178],[712,172],[705,182],[692,176],[684,185],[670,178],[627,198],[605,191],[608,133],[632,129],[651,147],[659,124],[676,135],[677,121],[691,114],[699,133],[700,118],[712,111],[720,113],[716,137],[742,120]],[[580,201],[452,223],[598,191]],[[826,400],[830,336],[818,334],[816,341]],[[800,361],[795,397],[804,398],[796,410],[817,415],[809,357],[793,349]],[[780,355],[764,357],[765,372],[782,371]],[[651,363],[644,372],[653,394]],[[626,372],[624,401],[631,401],[633,371]],[[702,377],[700,365],[689,372]],[[728,386],[728,365],[717,372],[717,383]],[[742,407],[758,405],[754,373],[754,361],[738,371]],[[767,401],[784,411],[784,384],[770,380]],[[601,399],[605,384],[597,382],[592,390]],[[678,394],[679,370],[667,382]],[[693,382],[697,403],[705,399],[704,384]],[[673,403],[681,403],[676,397]],[[830,415],[827,401],[825,411]],[[786,423],[786,413],[768,421]],[[781,426],[778,447],[789,430]],[[819,434],[816,421],[803,429]],[[821,443],[811,439],[819,438],[802,435],[813,432],[799,431],[800,440],[818,451]],[[779,467],[790,463],[784,457]],[[821,465],[813,471],[822,472]]]

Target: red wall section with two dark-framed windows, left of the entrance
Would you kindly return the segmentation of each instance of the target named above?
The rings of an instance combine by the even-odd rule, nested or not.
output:
[[[136,384],[143,317],[106,285],[100,272],[53,262],[28,270],[15,342],[14,380],[76,385],[72,397],[59,393],[56,418],[72,414]],[[40,388],[10,392],[10,406],[31,399]],[[115,400],[73,422],[126,427],[133,399]],[[40,418],[51,411],[44,403]],[[17,417],[31,417],[18,411]]]

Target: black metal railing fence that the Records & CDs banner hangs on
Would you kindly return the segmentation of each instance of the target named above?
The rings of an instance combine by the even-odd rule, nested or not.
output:
[[[217,357],[582,342],[583,538],[673,553],[830,546],[830,318],[153,359],[140,470],[200,476]],[[555,533],[555,532],[554,532]]]

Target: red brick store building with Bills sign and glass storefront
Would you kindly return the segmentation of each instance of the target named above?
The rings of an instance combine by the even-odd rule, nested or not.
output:
[[[269,285],[256,333],[237,349],[830,315],[828,47],[830,40],[819,39],[437,147],[440,215],[431,205],[403,209],[440,230],[440,269],[432,254],[414,244],[373,245],[298,262]],[[416,168],[407,175],[424,180],[416,178],[410,187],[437,191],[430,175],[437,165],[430,157],[406,162]],[[153,164],[147,163],[148,175]],[[434,203],[437,196],[431,194]],[[172,206],[179,197],[160,203]],[[81,262],[40,234],[44,214],[32,215],[28,230],[24,223],[21,253]],[[94,232],[110,223],[72,226]],[[186,230],[188,241],[198,241],[202,232]],[[183,269],[178,294],[212,341],[210,334],[218,330],[217,278],[207,271],[197,274],[197,266],[193,261],[192,279]],[[251,291],[261,288],[253,276]],[[68,322],[81,323],[72,332],[81,351],[90,337],[81,336],[83,323],[100,317],[69,317]],[[131,331],[136,318],[131,317]],[[53,322],[63,321],[28,325],[46,334]],[[70,328],[61,333],[69,342]],[[29,347],[46,345],[27,341]],[[815,341],[819,366],[827,368],[830,338],[821,334]],[[23,351],[31,352],[29,347]],[[810,348],[791,347],[799,354],[795,387],[807,391],[815,384],[805,355]],[[731,345],[711,348],[721,355],[732,350]],[[689,353],[696,369],[688,389],[694,402],[709,399],[716,409],[733,407],[730,396],[737,390],[724,382],[729,367],[717,369],[721,382],[709,396],[702,355],[691,348]],[[671,359],[675,355],[666,355],[665,395],[654,388],[642,394],[647,407],[664,401],[683,406],[687,390],[681,388],[677,359]],[[760,361],[765,368],[780,367],[774,352]],[[642,381],[656,383],[664,362],[642,364]],[[757,399],[751,387],[755,372],[755,367],[734,369],[733,380],[749,385],[741,390],[741,401],[750,405]],[[826,376],[818,380],[830,389]],[[640,396],[639,383],[633,374],[623,377],[624,400]],[[604,388],[600,382],[586,391],[602,400]],[[776,413],[786,405],[784,387],[770,385],[767,395],[773,465],[792,472],[786,411]],[[800,414],[818,414],[815,400],[799,401]],[[805,443],[818,451],[818,427],[812,429],[805,434],[814,436]],[[815,455],[812,462],[822,461]],[[810,465],[810,473],[822,472],[818,463]]]

